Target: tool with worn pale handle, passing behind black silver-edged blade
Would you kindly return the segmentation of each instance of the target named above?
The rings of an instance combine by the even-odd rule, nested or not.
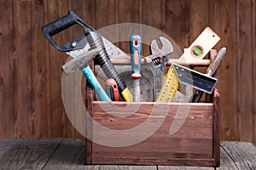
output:
[[[221,64],[222,60],[224,59],[224,54],[226,53],[226,48],[221,48],[218,51],[218,55],[216,58],[212,60],[212,63],[207,68],[207,76],[212,77],[214,73],[218,70],[219,65]],[[203,95],[203,91],[197,89],[195,94],[189,99],[189,102],[198,103],[201,100],[201,96]]]

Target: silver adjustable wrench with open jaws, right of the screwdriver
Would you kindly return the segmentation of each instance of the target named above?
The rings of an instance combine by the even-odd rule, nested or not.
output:
[[[151,42],[152,55],[145,57],[145,63],[153,73],[153,99],[156,100],[163,82],[163,69],[170,54],[173,51],[172,43],[165,37],[159,37],[162,47],[157,45],[156,40]]]

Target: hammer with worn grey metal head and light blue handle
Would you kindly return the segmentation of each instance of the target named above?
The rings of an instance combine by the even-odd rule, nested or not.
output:
[[[76,58],[68,61],[65,65],[62,65],[61,69],[67,76],[80,69],[84,73],[84,77],[86,77],[87,81],[90,83],[90,86],[95,89],[100,100],[111,101],[88,66],[90,59],[93,59],[99,53],[100,51],[98,48],[91,49],[87,53],[80,54]]]

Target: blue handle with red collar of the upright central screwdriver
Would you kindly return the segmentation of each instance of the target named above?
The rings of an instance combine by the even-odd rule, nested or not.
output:
[[[137,79],[141,77],[141,58],[142,58],[142,37],[138,34],[133,34],[130,37],[130,52],[131,52],[131,78]]]

